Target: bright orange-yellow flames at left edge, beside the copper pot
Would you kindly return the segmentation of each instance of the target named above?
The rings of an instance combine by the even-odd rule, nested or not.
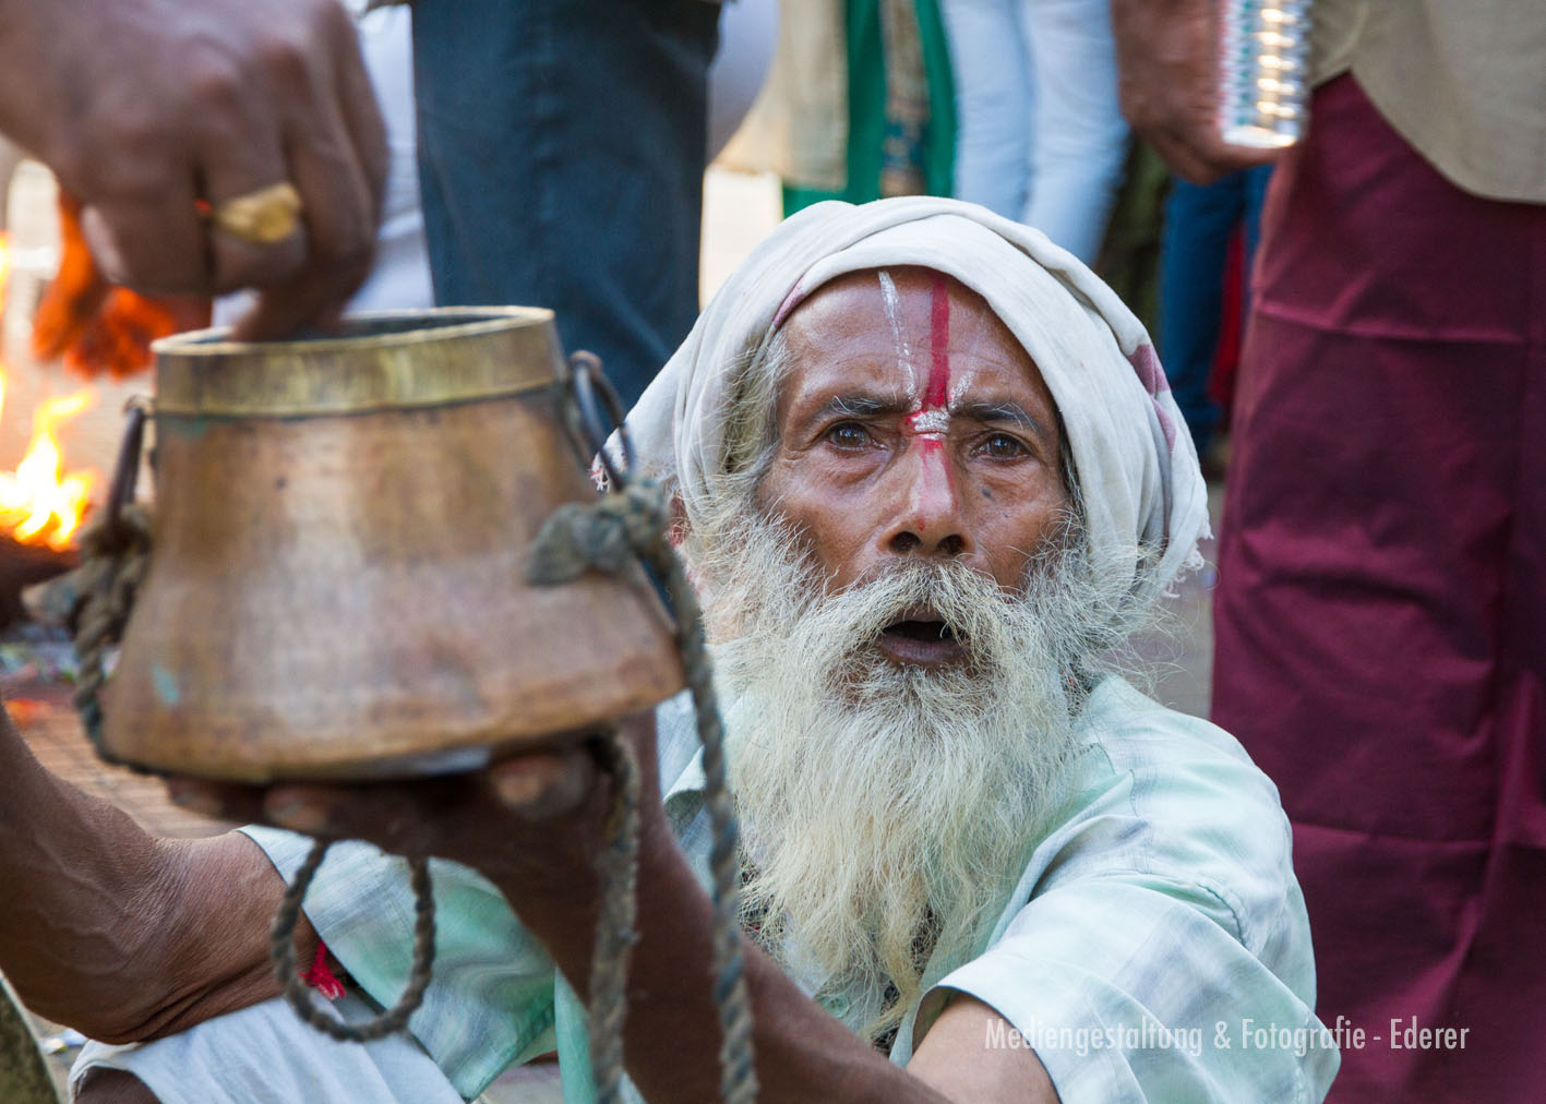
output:
[[[9,244],[0,235],[0,305],[9,275]],[[3,309],[0,309],[3,319]],[[32,439],[15,472],[0,472],[0,530],[23,544],[70,547],[71,533],[87,512],[94,472],[65,475],[56,431],[88,405],[94,394],[77,391],[48,399],[32,413]],[[0,410],[5,408],[5,363],[0,360]]]

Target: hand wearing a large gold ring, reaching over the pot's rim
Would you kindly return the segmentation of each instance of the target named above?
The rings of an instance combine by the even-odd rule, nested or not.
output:
[[[247,339],[337,317],[369,271],[386,172],[337,0],[0,5],[0,130],[82,199],[111,280],[257,288]]]

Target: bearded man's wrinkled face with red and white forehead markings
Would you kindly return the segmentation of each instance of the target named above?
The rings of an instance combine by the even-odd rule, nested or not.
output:
[[[1008,326],[929,269],[855,272],[784,323],[792,371],[759,504],[843,591],[900,558],[966,563],[1005,591],[1068,506],[1051,393]],[[929,609],[881,634],[906,665],[962,649]]]

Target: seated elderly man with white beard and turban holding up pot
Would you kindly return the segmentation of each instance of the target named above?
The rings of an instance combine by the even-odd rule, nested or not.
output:
[[[1325,1095],[1337,1050],[1313,1011],[1275,790],[1226,733],[1102,660],[1198,563],[1207,524],[1149,339],[1104,285],[968,204],[821,204],[731,277],[628,421],[638,465],[676,495],[713,643],[762,1099]],[[654,767],[631,1092],[711,1099],[691,708],[666,702],[626,731]],[[80,1099],[371,1085],[371,1099],[455,1101],[552,1050],[566,1099],[589,1099],[606,790],[581,751],[369,792],[181,784],[190,804],[455,860],[434,866],[434,982],[411,1041],[354,1047],[261,985],[184,1000],[193,1011],[156,1019],[170,1038],[91,1044]],[[226,959],[201,966],[212,993],[244,976],[238,935],[308,847],[274,827],[232,840],[229,892],[193,895],[230,932]],[[348,971],[345,1019],[362,994],[396,999],[408,900],[402,860],[329,852],[301,954],[320,935]]]

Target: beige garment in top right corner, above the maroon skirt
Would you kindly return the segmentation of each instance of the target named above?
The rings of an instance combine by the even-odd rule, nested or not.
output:
[[[1546,0],[1316,0],[1311,22],[1316,83],[1351,71],[1453,184],[1546,203]]]

